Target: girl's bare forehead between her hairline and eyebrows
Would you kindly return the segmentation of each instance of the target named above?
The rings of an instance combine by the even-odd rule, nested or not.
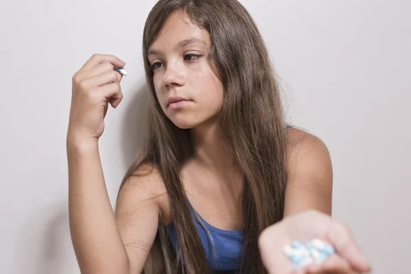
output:
[[[192,23],[186,14],[174,12],[162,27],[160,34],[154,40],[150,49],[164,51],[170,47],[177,46],[179,43],[181,44],[182,41],[190,41],[207,46],[210,43],[210,36],[206,30]]]

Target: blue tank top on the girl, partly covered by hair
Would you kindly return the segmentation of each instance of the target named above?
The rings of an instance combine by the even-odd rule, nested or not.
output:
[[[198,214],[190,203],[188,206],[212,272],[236,273],[240,269],[242,246],[244,245],[242,230],[223,230],[213,227]],[[195,218],[196,215],[198,219]],[[178,240],[173,222],[167,225],[166,232],[174,251],[177,252]]]

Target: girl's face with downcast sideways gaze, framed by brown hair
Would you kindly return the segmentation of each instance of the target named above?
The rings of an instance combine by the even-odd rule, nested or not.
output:
[[[155,94],[167,117],[188,129],[211,121],[223,86],[208,62],[210,35],[175,12],[148,51]]]

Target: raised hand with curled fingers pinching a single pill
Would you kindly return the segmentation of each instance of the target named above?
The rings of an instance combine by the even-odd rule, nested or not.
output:
[[[94,54],[72,79],[72,99],[67,138],[98,140],[104,130],[108,104],[116,108],[123,99],[120,82],[125,62],[114,55]]]

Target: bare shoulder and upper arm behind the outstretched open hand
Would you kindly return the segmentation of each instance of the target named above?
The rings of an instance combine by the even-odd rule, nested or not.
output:
[[[287,130],[284,216],[303,210],[331,214],[332,162],[325,143],[301,129]]]

